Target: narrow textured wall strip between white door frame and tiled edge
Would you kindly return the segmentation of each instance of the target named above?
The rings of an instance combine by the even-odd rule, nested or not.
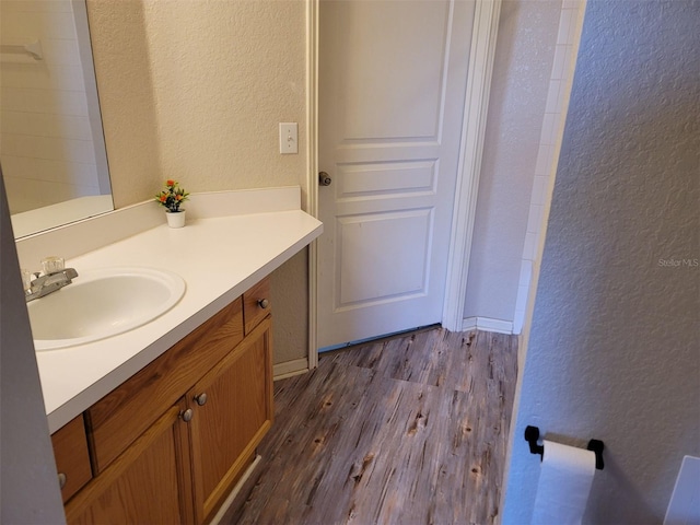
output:
[[[560,12],[561,1],[501,8],[465,317],[513,320]]]

